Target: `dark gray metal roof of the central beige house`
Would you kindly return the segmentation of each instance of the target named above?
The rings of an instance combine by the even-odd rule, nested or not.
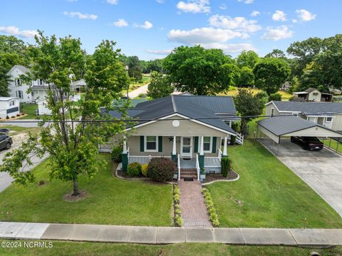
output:
[[[197,101],[194,99],[196,97],[201,97],[201,99]],[[215,112],[207,108],[207,106],[210,106],[210,108],[214,108],[215,110],[219,109],[218,104],[214,103],[214,98],[219,98],[219,103],[224,102],[223,100],[226,98],[226,101],[229,101],[229,103],[225,103],[225,106],[233,104],[233,106],[229,106],[226,110],[234,111],[233,113],[236,115],[232,98],[214,96],[167,96],[164,98],[158,98],[154,101],[138,103],[138,105],[133,108],[136,112],[132,113],[129,111],[128,113],[131,117],[139,119],[139,124],[147,123],[148,121],[155,120],[157,118],[170,116],[173,113],[178,113],[182,116],[186,116],[187,118],[193,118],[202,123],[207,123],[210,126],[235,134],[235,131],[230,128],[227,123],[224,123],[224,121],[218,118]],[[205,99],[207,99],[207,101],[205,101]],[[206,102],[209,102],[209,104],[205,104]],[[197,105],[199,103],[203,104]],[[217,106],[217,108],[215,106]],[[222,108],[222,110],[224,110],[224,108]],[[110,111],[110,114],[113,117],[118,117],[118,113],[115,113],[115,111]]]

